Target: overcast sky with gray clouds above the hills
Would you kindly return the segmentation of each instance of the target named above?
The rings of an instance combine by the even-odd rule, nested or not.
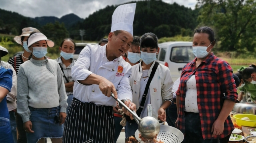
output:
[[[134,0],[0,0],[0,8],[18,12],[27,17],[56,16],[58,18],[74,13],[86,18],[93,12],[107,5],[123,4]],[[138,1],[138,0],[136,0]],[[195,8],[196,0],[162,0],[167,3],[178,3],[185,7]]]

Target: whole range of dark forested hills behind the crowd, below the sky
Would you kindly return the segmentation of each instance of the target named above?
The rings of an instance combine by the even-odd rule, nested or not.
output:
[[[133,1],[134,2],[134,1]],[[129,2],[129,3],[133,3]],[[192,10],[176,3],[168,4],[161,0],[147,0],[136,2],[133,33],[141,36],[146,32],[154,32],[158,38],[172,37],[178,34],[191,36],[192,30],[198,25],[198,9]],[[116,6],[106,6],[82,19],[75,14],[68,14],[57,18],[54,16],[42,16],[28,18],[16,12],[0,9],[0,33],[21,34],[25,27],[35,27],[43,30],[47,23],[64,23],[70,38],[80,40],[79,30],[86,30],[84,40],[100,40],[107,36],[111,29],[112,14]],[[46,34],[47,35],[47,34]]]

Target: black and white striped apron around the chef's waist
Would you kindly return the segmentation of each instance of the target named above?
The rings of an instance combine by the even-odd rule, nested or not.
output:
[[[63,143],[114,143],[112,106],[83,103],[73,98],[64,124]]]

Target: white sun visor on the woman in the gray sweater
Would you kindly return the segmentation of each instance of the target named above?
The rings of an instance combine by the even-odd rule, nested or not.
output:
[[[38,42],[38,41],[41,41],[41,40],[46,40],[47,45],[49,47],[54,46],[54,42],[52,40],[48,40],[47,37],[44,34],[42,34],[40,32],[36,32],[28,38],[28,47],[31,46],[32,44]]]

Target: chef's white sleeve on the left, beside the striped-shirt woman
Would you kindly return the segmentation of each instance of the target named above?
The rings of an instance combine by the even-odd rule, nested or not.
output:
[[[78,80],[86,79],[90,74],[94,74],[88,69],[90,68],[91,63],[91,49],[89,46],[86,46],[79,54],[78,59],[74,66],[71,67],[72,79],[76,81],[78,84],[82,85],[78,82]]]

